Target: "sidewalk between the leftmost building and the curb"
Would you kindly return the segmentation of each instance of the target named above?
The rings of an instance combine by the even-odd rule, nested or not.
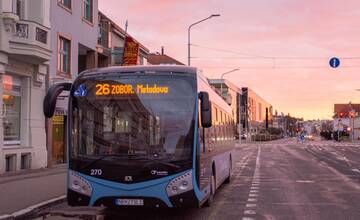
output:
[[[66,192],[66,165],[0,175],[0,219]]]

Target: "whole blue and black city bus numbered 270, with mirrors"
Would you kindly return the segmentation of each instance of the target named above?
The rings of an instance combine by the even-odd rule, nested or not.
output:
[[[69,91],[70,206],[201,207],[230,182],[230,106],[196,68],[109,67],[49,88],[44,114]]]

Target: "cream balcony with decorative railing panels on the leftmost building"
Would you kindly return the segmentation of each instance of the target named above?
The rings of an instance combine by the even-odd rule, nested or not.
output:
[[[50,60],[50,29],[36,22],[20,20],[9,39],[9,53],[40,64]]]

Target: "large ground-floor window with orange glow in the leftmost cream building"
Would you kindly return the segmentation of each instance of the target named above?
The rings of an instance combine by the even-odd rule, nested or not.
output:
[[[21,94],[20,79],[3,76],[3,107],[4,144],[20,144]]]

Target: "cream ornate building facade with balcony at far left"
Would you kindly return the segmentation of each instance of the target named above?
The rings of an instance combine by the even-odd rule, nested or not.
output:
[[[50,1],[0,1],[0,174],[47,165]]]

